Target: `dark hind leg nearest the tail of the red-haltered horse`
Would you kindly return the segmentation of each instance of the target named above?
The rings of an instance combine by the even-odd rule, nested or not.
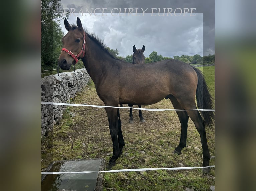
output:
[[[194,108],[191,108],[191,109],[196,109],[196,105]],[[200,134],[201,144],[203,149],[203,166],[209,166],[210,153],[207,145],[205,123],[198,111],[187,111],[187,113],[189,117],[192,119],[192,121],[194,122],[196,129]],[[210,168],[203,168],[203,173],[209,173],[209,172],[210,172]]]

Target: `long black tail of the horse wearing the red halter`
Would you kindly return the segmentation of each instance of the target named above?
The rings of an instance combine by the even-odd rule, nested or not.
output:
[[[202,72],[193,67],[198,76],[198,84],[196,90],[197,106],[198,109],[213,109],[213,98],[209,92],[209,88],[205,82]],[[213,111],[200,111],[201,116],[207,127],[213,129],[214,112]]]

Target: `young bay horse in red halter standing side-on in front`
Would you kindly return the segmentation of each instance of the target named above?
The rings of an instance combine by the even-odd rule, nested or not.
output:
[[[113,156],[107,168],[116,164],[125,145],[121,130],[118,104],[151,105],[163,98],[170,99],[177,110],[181,135],[174,152],[181,154],[186,146],[188,118],[190,117],[200,134],[203,149],[203,172],[210,172],[210,153],[206,139],[206,128],[212,128],[213,102],[203,74],[187,63],[169,59],[149,64],[131,64],[115,59],[108,53],[103,42],[95,35],[84,31],[80,19],[77,26],[64,20],[68,33],[62,38],[63,49],[58,58],[61,69],[68,70],[78,59],[95,84],[99,98],[104,102],[108,116],[110,135],[113,143]],[[129,74],[129,75],[127,75]]]

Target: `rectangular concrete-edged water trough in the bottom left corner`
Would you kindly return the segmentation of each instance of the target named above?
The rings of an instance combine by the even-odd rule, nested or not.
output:
[[[96,158],[54,161],[45,172],[103,170],[105,170],[105,159]],[[42,175],[42,191],[101,191],[102,184],[102,173]]]

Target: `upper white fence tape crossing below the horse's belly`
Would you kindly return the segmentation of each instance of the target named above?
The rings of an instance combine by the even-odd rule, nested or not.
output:
[[[97,108],[120,108],[120,109],[137,109],[145,111],[215,111],[214,109],[147,109],[147,108],[135,108],[135,107],[112,107],[112,106],[100,106],[100,105],[85,105],[85,104],[71,104],[71,103],[56,103],[56,102],[41,102],[47,105],[66,105],[66,106],[87,106],[87,107],[97,107]]]

